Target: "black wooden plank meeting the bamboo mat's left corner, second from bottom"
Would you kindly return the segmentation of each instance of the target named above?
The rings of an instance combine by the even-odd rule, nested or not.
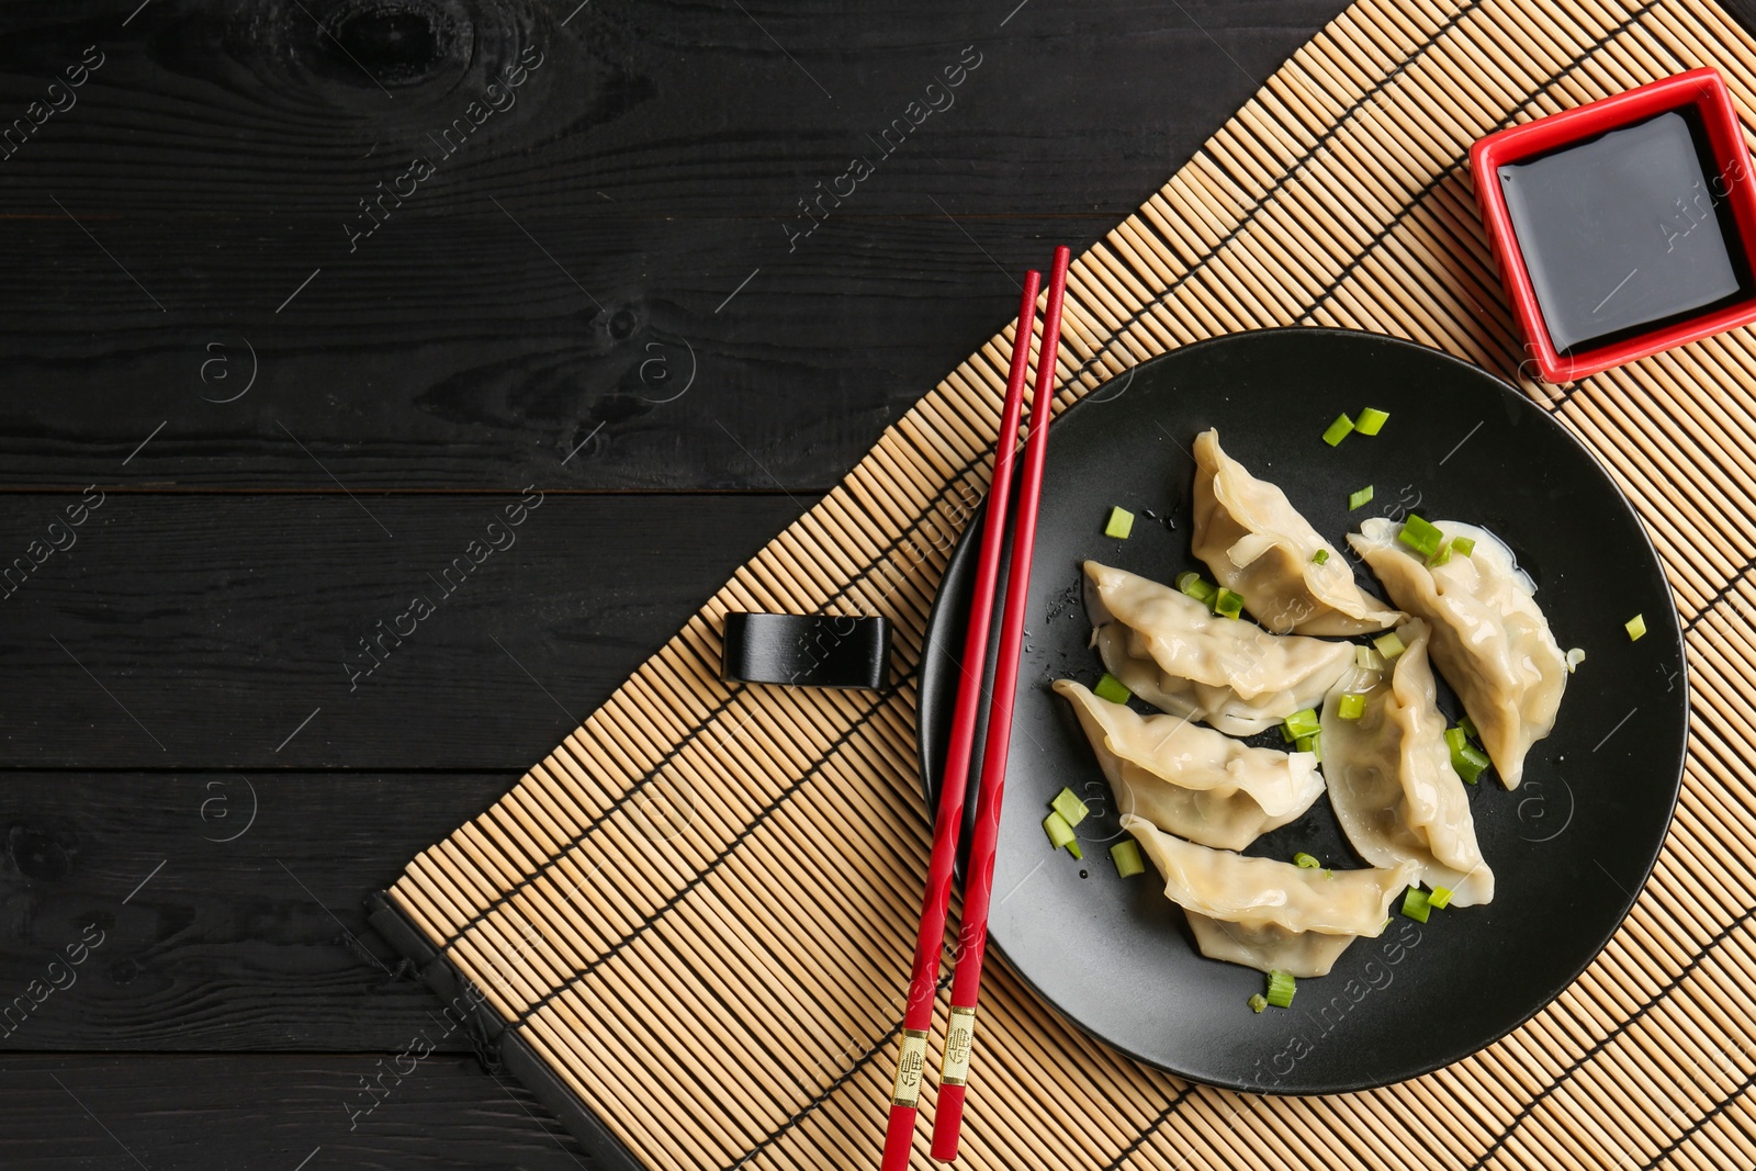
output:
[[[513,779],[5,774],[0,1050],[472,1052],[363,901]]]

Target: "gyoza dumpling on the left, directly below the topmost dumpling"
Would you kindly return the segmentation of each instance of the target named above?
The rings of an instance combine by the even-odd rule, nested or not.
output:
[[[1127,690],[1229,736],[1254,736],[1317,706],[1354,662],[1347,643],[1268,634],[1098,562],[1085,562],[1085,609],[1105,667]]]

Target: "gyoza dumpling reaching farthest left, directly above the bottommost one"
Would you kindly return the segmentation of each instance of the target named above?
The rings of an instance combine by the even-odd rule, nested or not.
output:
[[[1317,757],[1250,748],[1187,716],[1143,716],[1073,679],[1073,704],[1117,809],[1205,846],[1243,850],[1310,809],[1322,792]]]

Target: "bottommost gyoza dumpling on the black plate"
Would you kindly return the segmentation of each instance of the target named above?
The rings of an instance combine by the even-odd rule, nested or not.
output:
[[[1141,853],[1164,876],[1164,897],[1184,908],[1201,955],[1292,976],[1328,976],[1354,939],[1384,930],[1391,901],[1415,878],[1394,869],[1321,871],[1208,850],[1122,816]]]

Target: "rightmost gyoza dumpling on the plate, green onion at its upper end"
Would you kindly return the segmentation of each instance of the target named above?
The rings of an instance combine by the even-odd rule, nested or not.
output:
[[[1398,606],[1433,625],[1433,664],[1463,700],[1501,783],[1517,788],[1524,755],[1554,729],[1566,657],[1512,550],[1475,525],[1442,520],[1435,527],[1445,541],[1475,541],[1475,550],[1429,567],[1398,539],[1401,525],[1384,516],[1368,520],[1349,542]]]

